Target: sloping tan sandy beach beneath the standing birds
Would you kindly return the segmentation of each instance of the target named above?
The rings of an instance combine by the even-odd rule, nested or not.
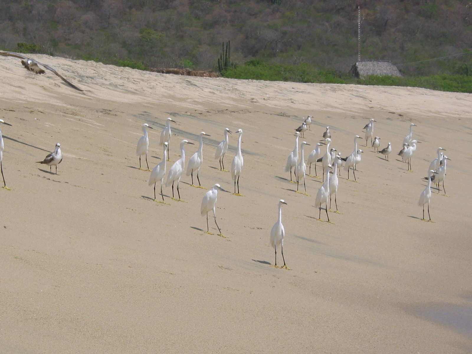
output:
[[[33,56],[33,55],[32,55]],[[300,84],[165,75],[34,55],[40,76],[0,57],[0,353],[471,353],[472,96],[421,88]],[[360,135],[359,183],[341,171],[333,222],[313,205],[321,180],[295,193],[284,171],[295,128],[313,116],[305,159],[330,126],[342,156]],[[185,202],[153,200],[136,143],[148,123],[148,162],[171,117],[167,169],[187,139],[203,137],[202,186],[219,183],[216,215],[205,190],[180,181]],[[386,161],[365,147],[374,118]],[[410,123],[421,142],[413,172],[398,160]],[[243,130],[240,193],[214,153],[223,130]],[[35,163],[61,144],[50,173]],[[236,152],[230,135],[225,166]],[[370,145],[370,144],[369,144]],[[416,205],[436,149],[446,149],[445,196]],[[321,149],[326,149],[325,145]],[[145,162],[144,162],[145,166]],[[313,169],[313,166],[312,166]],[[313,171],[312,171],[313,172]],[[318,166],[318,175],[321,175]],[[352,178],[352,177],[351,177]],[[303,191],[303,185],[300,186]],[[159,190],[159,183],[156,187]],[[158,195],[158,200],[160,196]],[[291,270],[271,267],[278,200]],[[212,214],[210,214],[212,216]],[[321,219],[325,220],[323,210]],[[278,263],[281,261],[278,253]]]

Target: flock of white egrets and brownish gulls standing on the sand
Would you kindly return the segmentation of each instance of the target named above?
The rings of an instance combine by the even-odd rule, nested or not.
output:
[[[356,165],[358,165],[361,160],[362,160],[362,150],[358,149],[358,143],[357,139],[360,138],[359,135],[354,136],[354,149],[353,152],[346,157],[342,157],[341,153],[336,154],[336,149],[331,148],[331,131],[329,126],[326,127],[326,131],[322,135],[322,140],[320,140],[319,143],[316,144],[315,148],[308,154],[308,158],[305,162],[305,147],[306,146],[311,146],[309,143],[303,141],[299,143],[299,138],[304,137],[304,134],[307,130],[311,130],[311,124],[312,124],[312,116],[308,116],[306,119],[304,119],[303,123],[301,126],[295,129],[295,147],[292,152],[287,157],[287,163],[285,166],[285,171],[290,172],[290,182],[293,182],[297,185],[296,188],[296,193],[301,193],[299,192],[299,186],[303,184],[304,188],[304,194],[308,195],[306,193],[306,183],[305,183],[305,176],[307,175],[307,166],[308,166],[308,176],[310,177],[318,177],[317,173],[317,163],[321,163],[322,167],[322,173],[321,173],[321,178],[323,184],[320,186],[318,189],[318,192],[316,194],[315,198],[315,207],[319,209],[319,215],[318,215],[318,220],[321,220],[321,209],[324,209],[326,211],[326,218],[327,222],[331,222],[329,220],[329,214],[328,211],[331,211],[331,202],[334,197],[334,202],[336,206],[336,213],[339,213],[337,209],[337,201],[336,201],[336,194],[337,194],[337,189],[338,189],[338,184],[339,184],[339,179],[338,179],[338,174],[340,174],[340,170],[343,166],[344,162],[344,170],[347,171],[347,180],[350,180],[350,171],[352,170],[352,174],[354,177],[354,182],[357,182],[357,179],[355,177],[355,171],[356,171]],[[144,135],[139,139],[136,147],[136,155],[139,156],[139,169],[141,168],[141,156],[144,155],[145,161],[146,161],[146,166],[147,166],[147,171],[151,171],[151,176],[149,177],[148,185],[154,185],[154,201],[160,202],[167,204],[164,201],[164,194],[162,191],[162,186],[164,185],[164,178],[167,172],[167,162],[169,161],[169,143],[170,139],[172,136],[172,131],[171,131],[171,126],[170,123],[174,122],[172,118],[167,118],[166,120],[166,126],[162,130],[162,133],[160,135],[160,146],[163,148],[163,158],[160,161],[159,164],[157,164],[152,171],[149,169],[149,164],[147,161],[147,153],[148,153],[148,147],[149,147],[149,138],[148,138],[148,132],[147,129],[151,128],[147,123],[143,124],[143,133]],[[391,143],[387,144],[387,147],[385,147],[382,150],[379,150],[380,147],[380,138],[379,136],[374,136],[374,122],[376,122],[374,119],[370,119],[369,122],[364,126],[365,134],[364,134],[364,139],[365,139],[365,146],[368,146],[369,140],[371,144],[371,148],[374,149],[374,151],[379,152],[385,157],[385,160],[388,161],[388,156],[392,152],[392,145]],[[4,122],[2,119],[0,119],[0,124],[5,124],[8,126],[11,126],[10,124]],[[408,166],[408,171],[411,171],[411,159],[416,151],[417,147],[417,140],[413,139],[413,126],[416,126],[414,123],[410,124],[410,133],[405,136],[405,139],[403,141],[403,148],[398,152],[398,155],[402,158],[402,161],[405,162]],[[223,131],[224,133],[224,140],[222,140],[215,152],[215,160],[219,160],[219,165],[220,165],[220,170],[228,172],[225,170],[225,165],[224,165],[224,157],[225,154],[228,151],[228,134],[232,134],[229,128],[225,128]],[[238,129],[236,131],[236,134],[238,134],[238,143],[237,143],[237,149],[236,149],[236,155],[234,156],[232,162],[231,162],[231,169],[230,169],[230,175],[231,178],[234,181],[234,195],[241,196],[239,193],[239,177],[241,175],[242,169],[243,169],[243,155],[241,152],[241,138],[243,135],[243,131],[241,129]],[[176,201],[182,201],[180,198],[180,191],[179,191],[179,182],[180,178],[182,177],[182,174],[185,171],[185,174],[187,176],[191,176],[192,179],[192,186],[198,187],[198,188],[203,188],[202,185],[200,184],[200,178],[199,178],[199,171],[202,166],[203,162],[203,136],[210,136],[209,134],[206,134],[205,132],[201,132],[199,135],[199,146],[196,152],[191,156],[190,160],[188,161],[187,168],[185,171],[185,145],[187,144],[194,144],[191,143],[187,140],[182,140],[180,143],[180,158],[175,161],[172,166],[169,169],[169,172],[167,173],[167,179],[165,182],[165,185],[167,187],[171,186],[172,187],[172,199]],[[324,151],[323,144],[326,145],[326,151]],[[3,137],[1,134],[0,130],[0,169],[1,169],[1,175],[3,178],[3,188],[4,189],[9,189],[5,183],[5,177],[3,175],[3,165],[2,165],[2,158],[3,158],[3,149],[4,149],[4,143],[3,143]],[[428,177],[424,177],[426,179],[427,185],[426,188],[421,192],[420,198],[418,200],[418,205],[423,207],[423,214],[422,214],[422,219],[423,221],[430,221],[430,199],[431,199],[431,183],[434,183],[437,186],[438,194],[440,192],[440,183],[442,182],[442,188],[444,191],[444,195],[446,195],[446,189],[444,188],[444,179],[446,177],[446,171],[447,171],[447,160],[450,160],[445,154],[444,151],[446,149],[443,149],[442,147],[438,147],[437,149],[437,155],[438,157],[431,161],[429,169],[428,169]],[[300,154],[299,154],[300,152]],[[324,153],[323,153],[324,152]],[[56,167],[56,174],[57,174],[57,165],[62,161],[62,153],[60,150],[60,144],[56,144],[56,148],[54,152],[51,152],[46,156],[46,158],[42,161],[38,161],[38,163],[46,164],[50,167],[50,171],[52,171],[52,166]],[[315,171],[315,175],[312,176],[312,165]],[[194,174],[196,177],[196,180],[198,181],[198,186],[194,185]],[[160,182],[160,195],[162,200],[157,200],[156,198],[156,184]],[[176,185],[177,189],[177,195],[178,199],[175,198],[174,194],[174,185]],[[203,188],[205,189],[205,188]],[[207,219],[207,231],[206,233],[211,234],[210,228],[208,225],[208,213],[210,211],[213,211],[213,218],[216,224],[216,227],[218,228],[219,231],[219,236],[223,236],[221,229],[218,226],[217,219],[216,219],[216,212],[215,212],[215,204],[217,201],[218,197],[218,189],[221,189],[219,184],[213,185],[213,187],[205,193],[205,195],[202,198],[202,205],[201,205],[201,214],[202,216],[206,215]],[[328,201],[329,201],[329,207],[328,207]],[[274,252],[275,252],[275,263],[273,267],[277,268],[284,268],[284,269],[289,269],[285,263],[285,258],[284,258],[284,251],[283,251],[283,243],[284,243],[284,236],[285,236],[285,229],[282,224],[282,204],[287,204],[283,199],[280,199],[278,202],[278,219],[277,222],[274,224],[270,231],[270,245],[273,247]],[[322,208],[322,206],[325,206]],[[424,218],[424,209],[425,205],[427,206],[427,211],[428,211],[428,217],[429,219],[426,220]],[[211,234],[212,235],[212,234]],[[281,253],[282,253],[282,259],[284,261],[284,265],[282,267],[279,267],[277,265],[277,248],[280,245]]]

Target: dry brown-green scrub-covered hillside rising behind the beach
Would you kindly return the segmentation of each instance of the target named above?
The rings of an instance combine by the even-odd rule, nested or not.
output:
[[[399,69],[469,74],[472,5],[461,0],[2,1],[0,47],[136,68],[217,70],[221,43],[230,40],[233,63],[306,65],[335,80],[357,59],[358,3],[361,59],[398,65],[456,55]]]

